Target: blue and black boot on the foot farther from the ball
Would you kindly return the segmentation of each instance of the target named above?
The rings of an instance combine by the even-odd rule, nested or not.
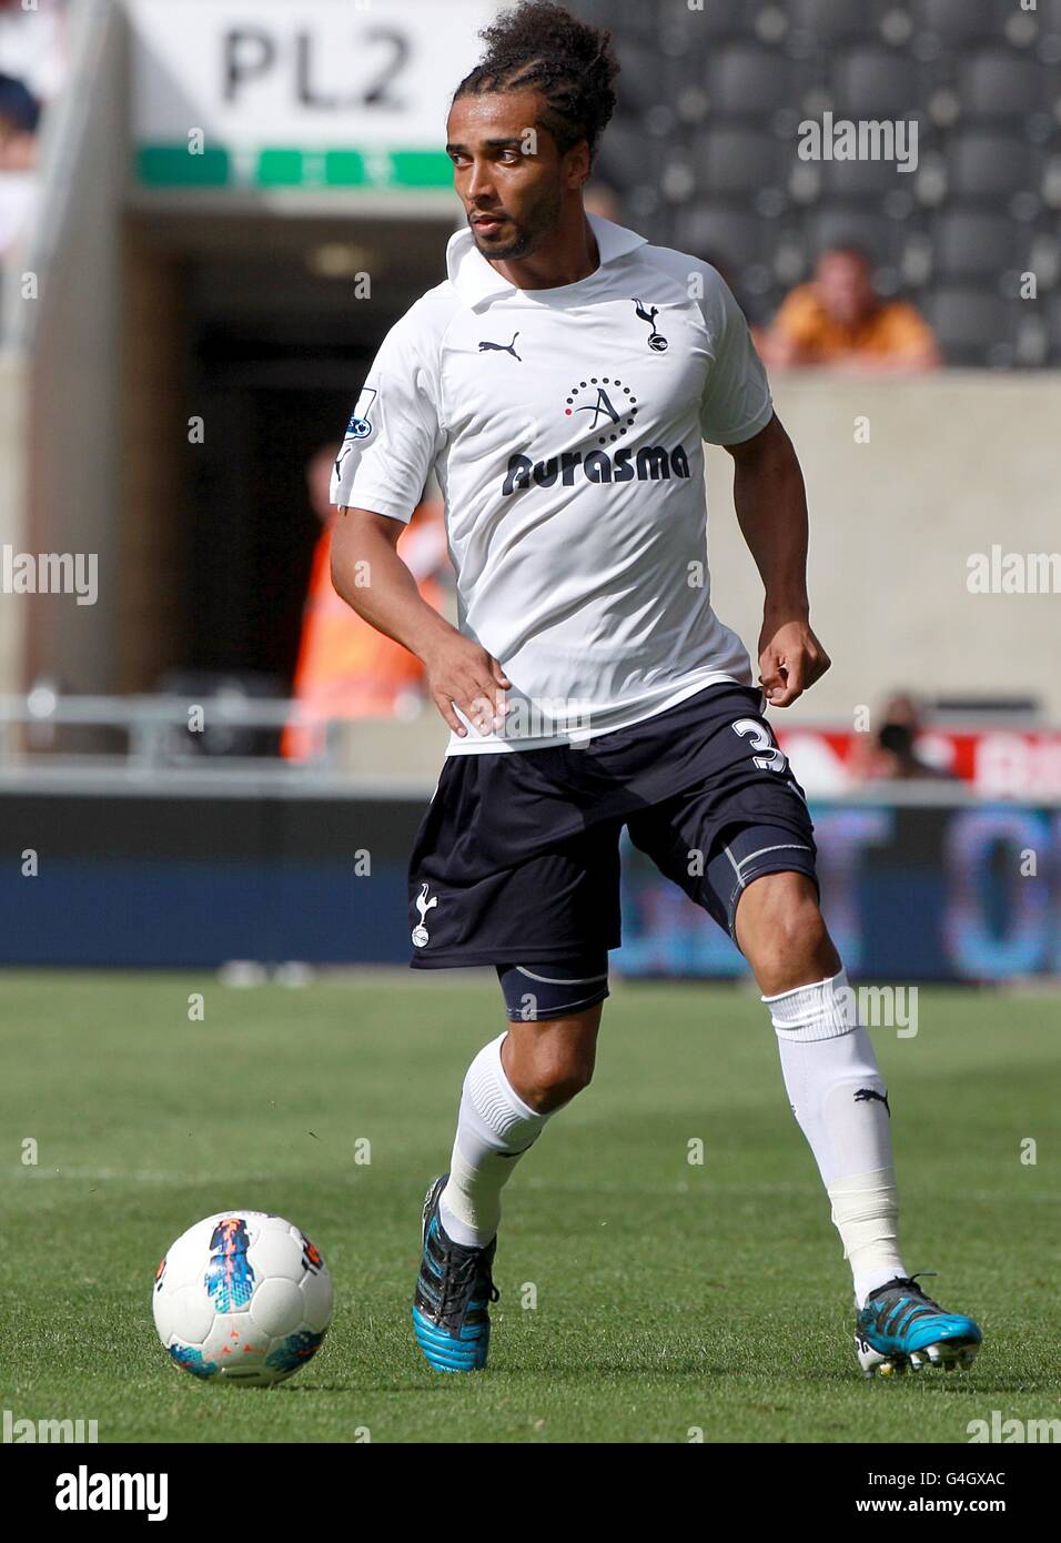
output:
[[[854,1349],[864,1376],[896,1376],[910,1367],[941,1366],[965,1370],[976,1359],[979,1327],[962,1313],[945,1313],[939,1302],[902,1276],[870,1291],[854,1327]]]

